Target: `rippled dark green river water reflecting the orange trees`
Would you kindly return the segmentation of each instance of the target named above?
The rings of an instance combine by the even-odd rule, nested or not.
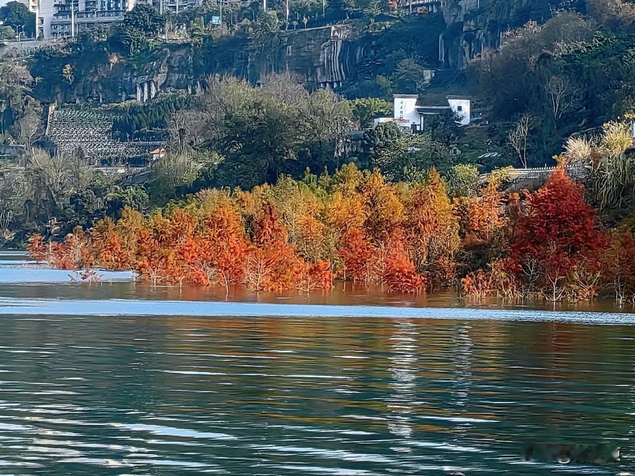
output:
[[[633,314],[127,280],[0,255],[0,475],[635,474]]]

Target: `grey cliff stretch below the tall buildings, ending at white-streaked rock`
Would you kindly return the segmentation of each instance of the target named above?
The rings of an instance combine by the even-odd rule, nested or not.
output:
[[[189,44],[166,45],[138,63],[117,55],[97,55],[93,61],[81,58],[73,65],[72,84],[46,81],[39,93],[44,100],[58,102],[119,102],[138,99],[140,94],[143,97],[145,88],[150,96],[154,90],[194,90],[215,73],[258,83],[267,74],[285,71],[314,86],[337,88],[354,78],[361,55],[352,25],[283,31],[265,44],[247,36],[224,37],[199,50],[195,48]],[[60,72],[67,61],[50,64],[47,69]]]

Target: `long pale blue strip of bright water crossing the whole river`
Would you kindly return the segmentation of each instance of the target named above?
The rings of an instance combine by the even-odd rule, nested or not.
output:
[[[635,310],[540,310],[494,307],[413,307],[388,305],[298,304],[151,300],[140,298],[59,299],[0,297],[0,315],[119,316],[131,317],[378,317],[388,319],[451,319],[459,321],[570,322],[635,325]]]

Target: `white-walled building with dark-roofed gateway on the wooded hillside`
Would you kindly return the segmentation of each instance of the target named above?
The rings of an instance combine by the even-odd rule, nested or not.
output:
[[[422,131],[425,130],[427,117],[450,111],[457,114],[461,126],[470,123],[471,100],[465,96],[447,96],[448,105],[443,106],[418,106],[416,94],[396,94],[393,97],[393,117],[379,117],[375,119],[375,126],[382,122],[396,122],[403,128]]]

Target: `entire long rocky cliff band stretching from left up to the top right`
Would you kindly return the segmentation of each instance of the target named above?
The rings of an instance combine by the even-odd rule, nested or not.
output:
[[[563,1],[565,3],[563,3]],[[277,32],[264,40],[236,34],[210,44],[166,45],[140,60],[104,51],[84,52],[75,58],[74,81],[65,83],[60,72],[69,58],[46,60],[32,71],[43,77],[43,100],[72,102],[93,99],[119,102],[142,100],[168,89],[194,90],[211,74],[226,73],[258,83],[272,72],[293,72],[316,87],[338,88],[373,74],[373,64],[384,62],[386,51],[441,69],[464,69],[487,48],[500,45],[505,30],[528,20],[546,21],[552,12],[578,8],[584,0],[439,0],[439,12],[427,18],[409,18],[401,26],[368,32],[363,25],[347,24]],[[437,40],[438,39],[438,40]],[[44,63],[44,62],[43,62]],[[370,66],[369,66],[370,65]],[[57,75],[57,76],[55,76]],[[48,77],[47,77],[48,76]]]

